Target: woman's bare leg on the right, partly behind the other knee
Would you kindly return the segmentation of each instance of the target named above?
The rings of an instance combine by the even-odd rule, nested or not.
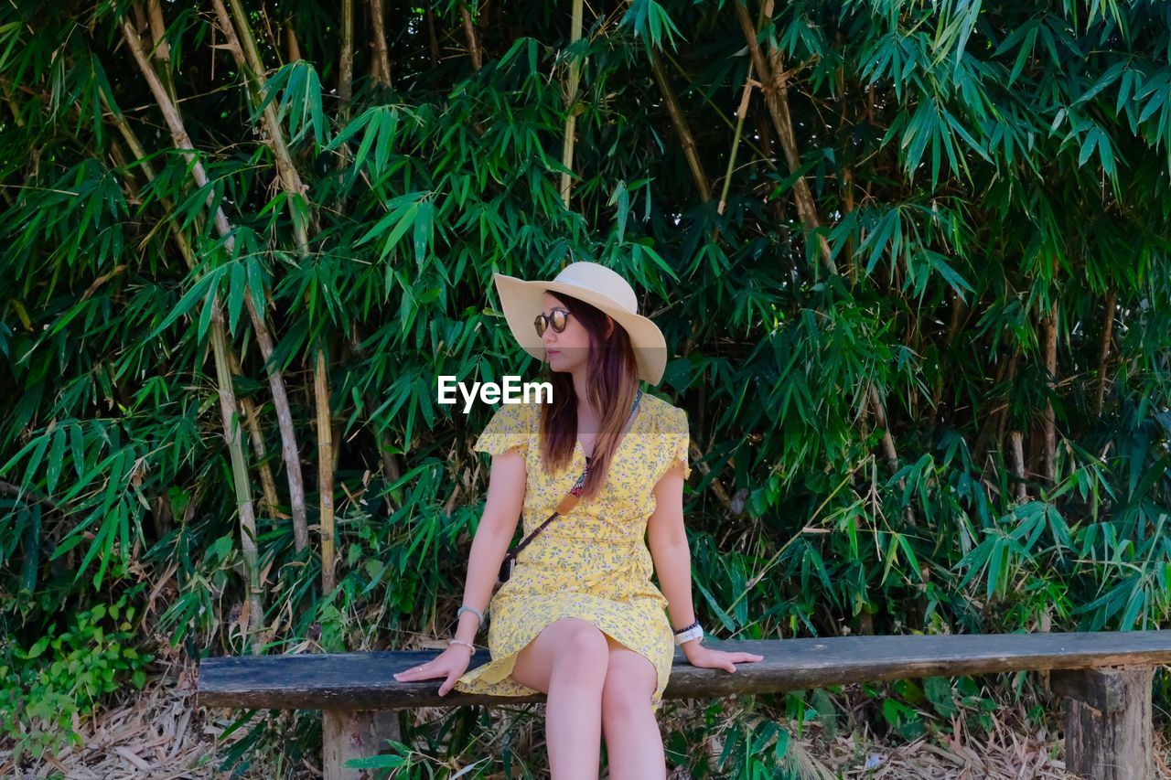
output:
[[[651,706],[658,673],[641,654],[605,638],[610,662],[602,686],[602,732],[610,780],[665,780],[666,753]]]

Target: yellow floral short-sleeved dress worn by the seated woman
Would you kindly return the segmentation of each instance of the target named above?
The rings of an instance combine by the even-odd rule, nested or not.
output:
[[[555,518],[516,555],[512,576],[492,596],[485,616],[492,661],[465,672],[456,680],[457,691],[537,693],[512,678],[516,654],[549,623],[581,617],[655,665],[658,685],[651,705],[658,711],[676,644],[666,597],[650,579],[653,559],[645,542],[646,521],[655,512],[655,485],[671,465],[678,459],[684,477],[691,474],[687,443],[686,411],[644,392],[602,492]],[[586,453],[575,443],[569,467],[546,472],[537,404],[502,404],[474,445],[491,454],[511,447],[525,457],[521,518],[527,536],[574,486]]]

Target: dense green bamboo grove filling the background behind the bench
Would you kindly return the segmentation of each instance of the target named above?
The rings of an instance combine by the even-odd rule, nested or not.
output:
[[[491,275],[570,255],[667,337],[717,636],[1162,624],[1169,50],[1112,0],[5,4],[9,703],[450,635],[492,410],[436,377],[536,376]],[[70,615],[123,672],[37,671]]]

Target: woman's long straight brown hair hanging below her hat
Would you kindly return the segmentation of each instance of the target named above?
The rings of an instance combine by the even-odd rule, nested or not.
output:
[[[589,334],[586,394],[597,410],[600,420],[590,456],[589,474],[582,486],[582,500],[601,490],[610,471],[610,461],[630,418],[630,405],[638,391],[638,362],[626,329],[615,321],[614,331],[605,335],[607,314],[595,306],[560,292],[546,290],[562,301]],[[577,442],[577,391],[574,378],[566,371],[553,371],[546,363],[547,382],[553,385],[553,403],[541,413],[541,458],[550,472],[570,465]],[[639,404],[643,406],[644,404]],[[639,415],[643,412],[639,411]]]

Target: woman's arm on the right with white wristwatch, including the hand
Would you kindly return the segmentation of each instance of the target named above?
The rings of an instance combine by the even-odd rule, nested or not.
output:
[[[691,625],[696,609],[691,600],[691,548],[683,527],[683,464],[676,463],[655,485],[655,513],[646,522],[646,542],[659,588],[667,600],[671,630]],[[673,638],[673,637],[672,637]],[[725,652],[705,648],[701,638],[684,642],[683,654],[692,666],[735,671],[737,663],[763,659],[753,652]]]

